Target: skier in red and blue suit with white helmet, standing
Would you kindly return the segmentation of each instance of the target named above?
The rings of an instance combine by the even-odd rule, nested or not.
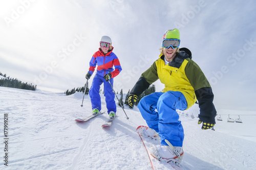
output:
[[[101,100],[99,95],[100,85],[104,83],[104,96],[106,101],[106,108],[110,118],[116,114],[115,93],[113,92],[113,78],[116,77],[122,70],[119,59],[113,53],[112,40],[109,36],[102,36],[100,40],[100,48],[93,54],[90,60],[90,68],[86,74],[89,79],[93,74],[96,66],[97,72],[93,78],[92,86],[89,90],[91,98],[93,115],[96,115],[101,110]],[[113,69],[115,67],[115,70]],[[112,87],[110,83],[112,84]]]

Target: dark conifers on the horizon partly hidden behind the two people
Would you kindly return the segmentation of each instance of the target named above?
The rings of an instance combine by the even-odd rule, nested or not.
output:
[[[85,89],[86,89],[86,92],[84,93],[84,90],[85,90]],[[72,90],[67,90],[67,91],[64,92],[64,94],[66,94],[66,95],[68,96],[68,95],[74,94],[74,93],[76,93],[76,92],[82,92],[82,93],[88,95],[88,94],[89,94],[88,83],[86,83],[86,84],[84,85],[84,87],[74,88],[74,89],[72,89]],[[101,94],[101,92],[102,92],[102,94],[104,94],[104,91],[102,91],[102,90],[100,89],[99,94]],[[138,96],[138,100],[136,101],[135,105],[138,105],[138,103],[139,103],[139,101],[142,99],[142,97],[147,96],[147,95],[149,95],[149,94],[151,94],[151,93],[154,93],[154,92],[156,92],[156,86],[155,86],[155,84],[152,84],[147,90],[145,90],[141,95]],[[118,94],[118,92],[117,92],[117,94]],[[126,96],[125,96],[124,102],[123,102],[123,89],[121,89],[119,95],[120,95],[120,98],[119,98],[120,103],[118,102],[118,105],[119,105],[120,107],[123,107],[123,105],[125,104],[125,105],[127,105],[130,109],[133,109],[133,107],[130,107],[130,105],[129,105],[129,103],[128,103],[128,98],[129,98],[129,95],[130,95],[130,89],[129,89],[129,91],[127,92],[127,94],[126,94]]]

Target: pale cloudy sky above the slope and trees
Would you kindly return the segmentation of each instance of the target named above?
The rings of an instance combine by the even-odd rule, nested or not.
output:
[[[231,0],[1,1],[0,72],[41,90],[82,87],[101,36],[108,35],[123,69],[114,89],[127,93],[159,58],[163,33],[178,28],[180,47],[191,51],[211,84],[217,112],[256,111],[255,6]],[[164,88],[159,80],[154,84]]]

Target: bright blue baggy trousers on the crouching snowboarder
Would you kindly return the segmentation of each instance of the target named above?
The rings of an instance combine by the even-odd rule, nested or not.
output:
[[[184,131],[177,109],[187,109],[187,101],[181,92],[155,92],[143,97],[138,108],[149,128],[159,133],[161,144],[167,139],[174,146],[182,146]]]

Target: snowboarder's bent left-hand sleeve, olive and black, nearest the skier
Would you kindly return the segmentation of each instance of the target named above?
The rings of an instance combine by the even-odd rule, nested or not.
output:
[[[136,82],[133,89],[131,90],[130,95],[141,95],[141,93],[147,90],[148,87],[150,87],[150,85],[156,80],[158,80],[158,75],[155,61],[149,69],[141,74],[139,80]]]

